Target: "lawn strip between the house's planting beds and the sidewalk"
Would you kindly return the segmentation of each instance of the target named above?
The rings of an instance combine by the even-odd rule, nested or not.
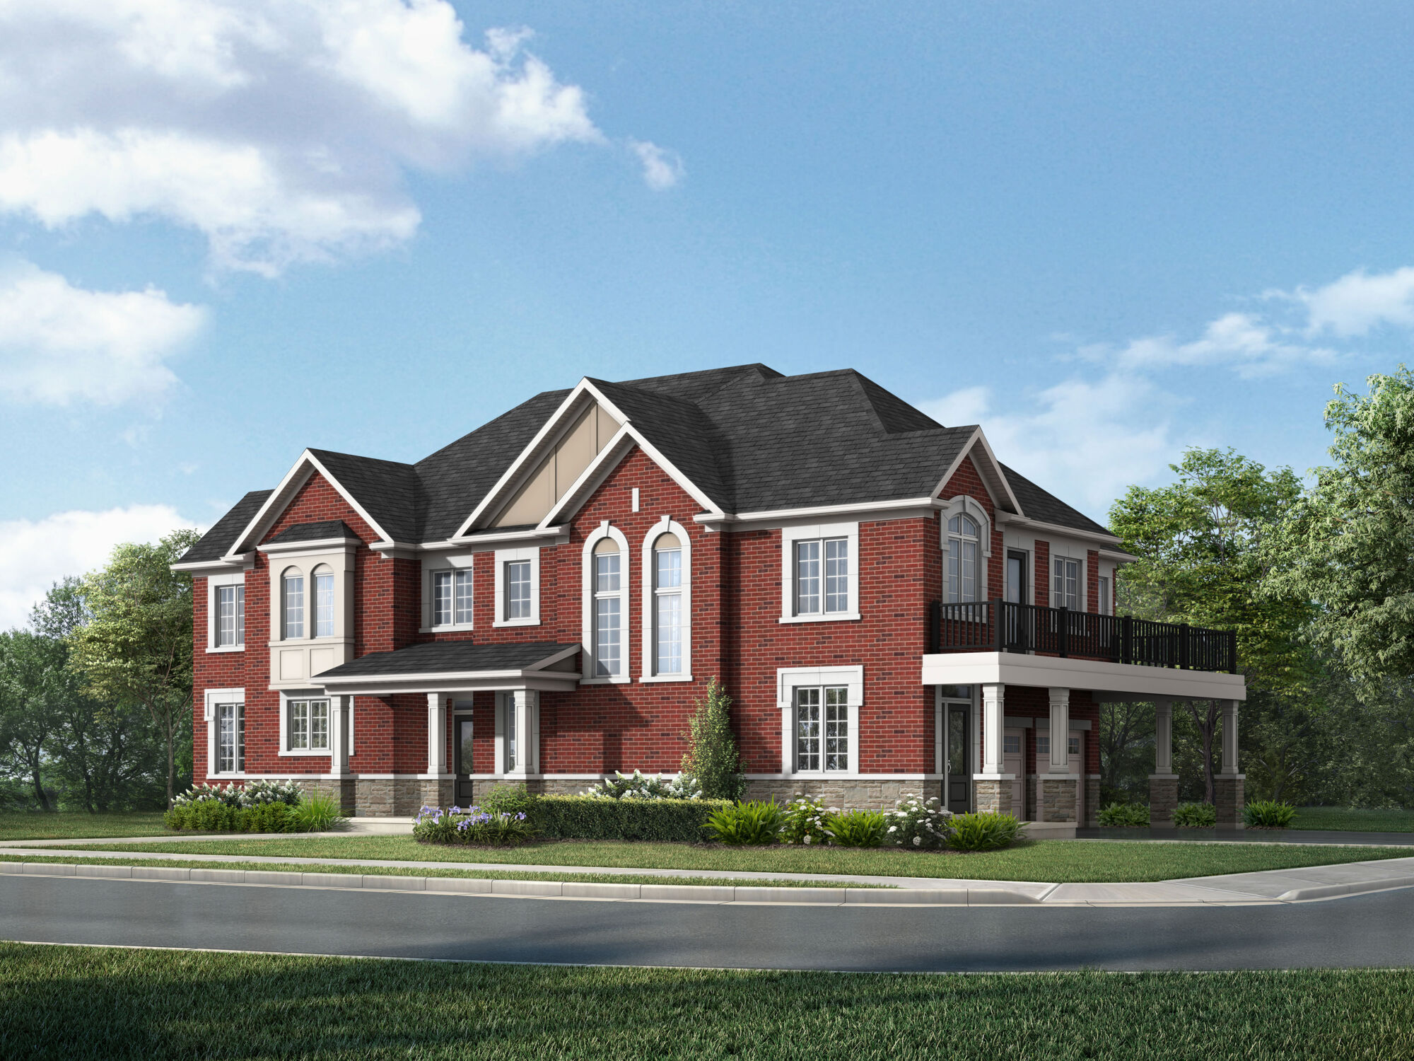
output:
[[[102,845],[65,845],[102,850]],[[858,850],[841,847],[732,849],[687,843],[551,840],[525,847],[467,850],[423,845],[411,836],[279,837],[269,840],[185,840],[124,846],[189,854],[264,854],[307,859],[479,862],[513,866],[617,866],[728,873],[847,873],[970,880],[1109,883],[1205,877],[1219,873],[1331,866],[1342,862],[1410,857],[1398,847],[1316,847],[1270,843],[1124,843],[1121,840],[1035,840],[1001,852]]]

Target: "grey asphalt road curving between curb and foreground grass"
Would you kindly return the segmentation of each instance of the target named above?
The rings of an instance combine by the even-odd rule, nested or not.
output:
[[[1261,907],[847,908],[0,877],[0,938],[885,972],[1414,965],[1414,890]]]

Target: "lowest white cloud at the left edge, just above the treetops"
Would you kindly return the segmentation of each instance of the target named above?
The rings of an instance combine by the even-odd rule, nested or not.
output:
[[[30,610],[49,586],[102,567],[115,545],[156,542],[184,526],[195,525],[170,505],[0,521],[0,630],[28,622]]]

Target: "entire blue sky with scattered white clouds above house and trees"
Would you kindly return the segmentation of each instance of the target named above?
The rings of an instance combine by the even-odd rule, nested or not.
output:
[[[853,366],[1103,518],[1408,358],[1404,4],[112,7],[0,0],[0,627],[583,375]]]

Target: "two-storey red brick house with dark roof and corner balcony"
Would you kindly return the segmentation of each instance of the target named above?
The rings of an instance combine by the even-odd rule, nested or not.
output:
[[[754,795],[1063,830],[1097,811],[1100,702],[1203,697],[1230,823],[1232,638],[1114,615],[1127,559],[978,427],[853,371],[583,379],[416,464],[305,450],[192,546],[195,777],[359,815],[583,791],[676,771],[715,676]]]

